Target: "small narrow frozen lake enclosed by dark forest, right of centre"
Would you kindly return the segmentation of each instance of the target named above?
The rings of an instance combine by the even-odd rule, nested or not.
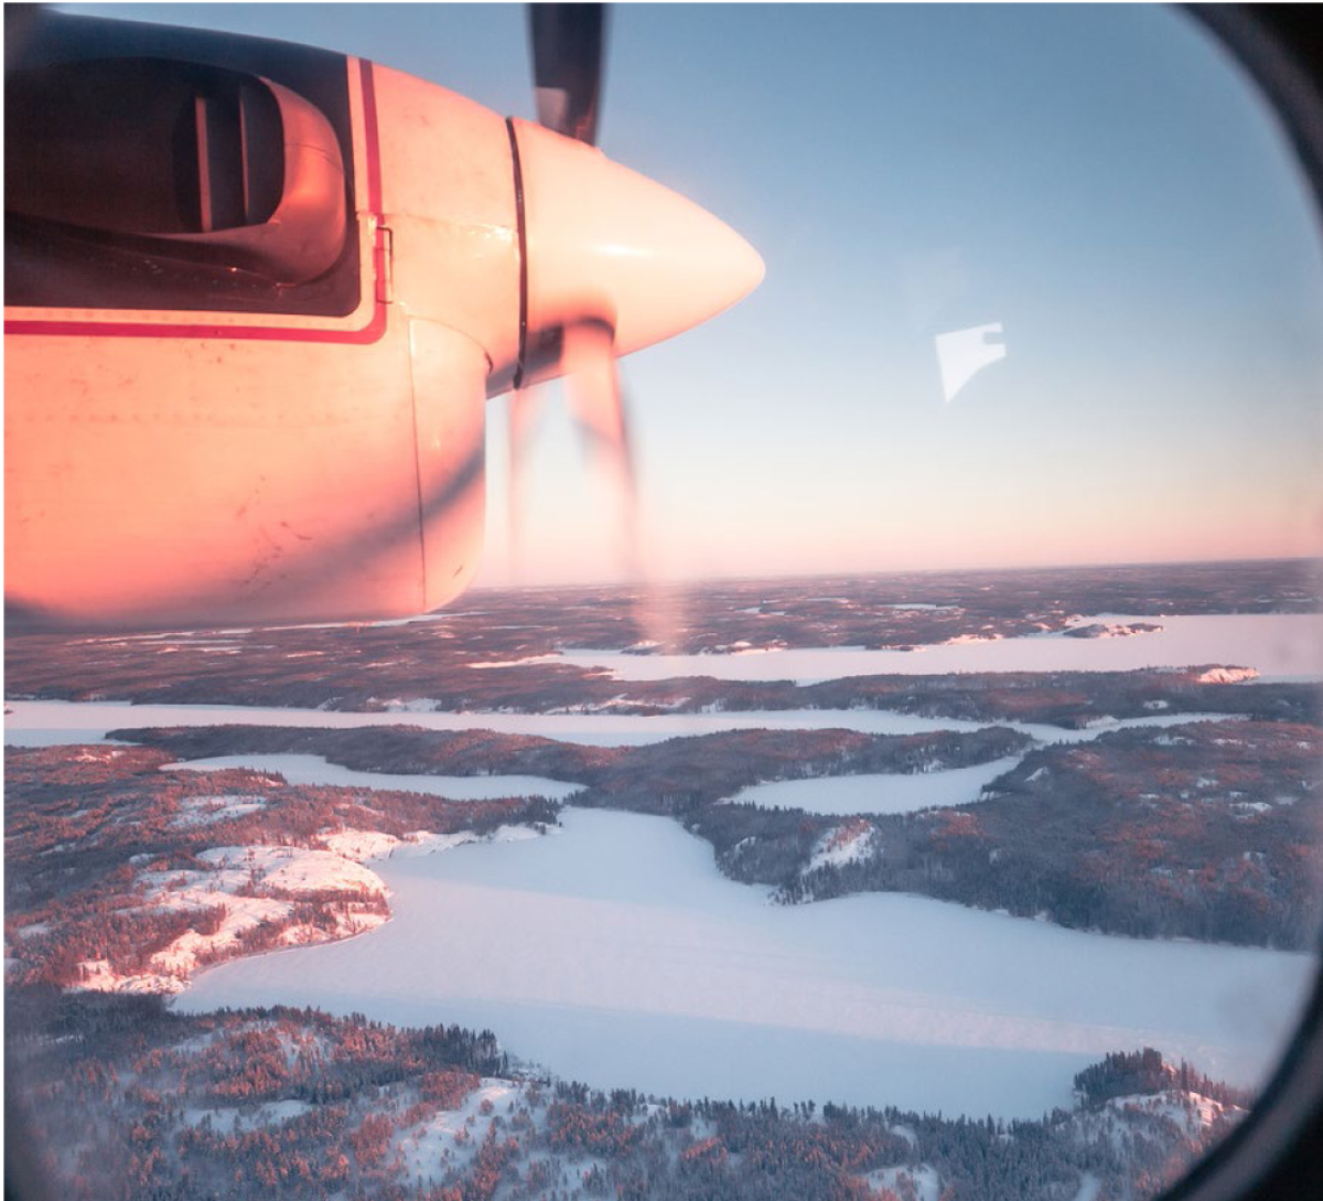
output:
[[[913,775],[878,772],[831,775],[808,780],[775,780],[741,788],[732,802],[807,813],[912,813],[929,806],[963,806],[979,799],[986,784],[1009,771],[1019,758],[1008,755],[974,767],[923,771]]]

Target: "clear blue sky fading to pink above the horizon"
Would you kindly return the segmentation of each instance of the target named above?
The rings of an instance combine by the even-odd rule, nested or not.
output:
[[[533,115],[517,4],[62,7],[325,45]],[[1319,553],[1318,229],[1179,12],[618,4],[599,134],[767,267],[622,361],[652,574]],[[949,398],[937,348],[975,327],[1004,353]],[[517,561],[490,405],[480,583],[624,569],[550,399]]]

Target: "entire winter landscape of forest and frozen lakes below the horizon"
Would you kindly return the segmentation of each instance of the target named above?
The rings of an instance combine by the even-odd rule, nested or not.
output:
[[[1315,585],[12,635],[37,1155],[73,1197],[1150,1196],[1316,971]]]

